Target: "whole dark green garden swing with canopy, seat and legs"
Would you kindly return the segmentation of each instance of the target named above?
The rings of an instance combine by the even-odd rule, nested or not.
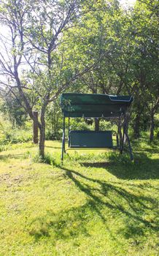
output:
[[[63,112],[63,139],[62,139],[62,154],[63,161],[65,148],[65,118],[69,118],[69,148],[115,148],[113,145],[112,135],[115,133],[117,146],[120,153],[123,153],[124,137],[127,138],[128,148],[131,160],[133,154],[131,143],[128,138],[125,126],[125,113],[128,107],[133,102],[131,96],[113,96],[107,94],[61,94],[61,108]],[[117,132],[108,131],[70,131],[70,118],[118,118],[119,122],[123,118],[123,134],[122,143],[119,146],[119,126]]]

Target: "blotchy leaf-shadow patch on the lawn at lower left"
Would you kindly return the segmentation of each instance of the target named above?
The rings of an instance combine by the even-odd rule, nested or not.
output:
[[[61,211],[55,214],[51,210],[47,210],[47,216],[35,218],[29,224],[28,233],[34,236],[36,242],[42,237],[54,236],[54,242],[58,239],[66,240],[70,237],[77,237],[80,234],[90,236],[85,225],[85,212],[91,202],[86,203],[84,206],[73,207],[68,211]],[[47,219],[47,221],[46,221]],[[37,227],[39,227],[37,229]]]

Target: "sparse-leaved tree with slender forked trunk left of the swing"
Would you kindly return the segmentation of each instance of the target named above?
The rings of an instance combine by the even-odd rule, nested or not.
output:
[[[75,26],[85,12],[87,5],[82,6],[79,0],[1,1],[1,25],[7,31],[7,36],[1,35],[1,91],[4,95],[10,91],[21,99],[23,108],[38,125],[42,158],[47,105],[90,69],[88,65],[82,70],[69,69],[65,56],[69,39],[63,40],[65,31]],[[34,108],[40,110],[39,120]]]

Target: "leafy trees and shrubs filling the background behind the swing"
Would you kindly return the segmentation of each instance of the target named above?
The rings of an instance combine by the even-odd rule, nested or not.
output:
[[[0,22],[7,29],[7,36],[1,32],[0,56],[3,143],[20,141],[18,127],[31,127],[31,118],[39,126],[44,157],[45,138],[61,139],[63,91],[131,94],[131,135],[158,138],[158,1],[139,0],[124,9],[116,0],[8,0],[1,1]],[[107,125],[77,120],[72,127],[98,129],[98,122],[100,129]]]

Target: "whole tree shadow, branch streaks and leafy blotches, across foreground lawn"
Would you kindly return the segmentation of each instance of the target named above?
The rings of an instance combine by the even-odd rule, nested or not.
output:
[[[39,241],[43,236],[54,236],[55,240],[70,239],[81,234],[90,236],[87,224],[93,219],[93,225],[102,222],[106,233],[109,233],[109,237],[118,244],[122,242],[117,238],[117,232],[124,238],[131,237],[139,241],[140,238],[147,236],[148,230],[148,233],[155,233],[158,230],[157,218],[144,218],[152,211],[157,217],[157,200],[151,196],[144,196],[144,189],[148,187],[139,187],[139,184],[133,184],[131,187],[132,184],[123,185],[122,181],[106,182],[63,166],[61,170],[63,178],[73,182],[78,193],[85,193],[87,200],[82,206],[72,207],[58,214],[47,211],[47,216],[34,219],[30,227],[34,227],[37,222],[39,230],[32,228],[29,233],[34,236],[35,241]],[[114,227],[115,222],[109,222],[110,216],[116,221],[120,219],[122,228],[120,226],[117,230],[117,227]]]

